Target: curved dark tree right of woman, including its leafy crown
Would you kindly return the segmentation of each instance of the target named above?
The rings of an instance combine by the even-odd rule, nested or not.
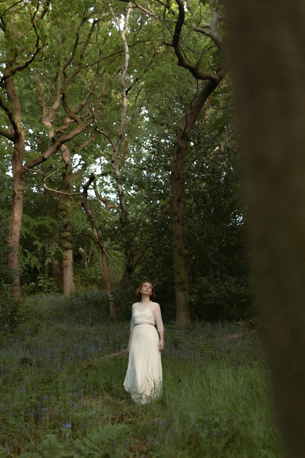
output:
[[[223,32],[220,29],[224,17],[216,9],[216,3],[209,0],[209,8],[206,6],[187,3],[188,18],[186,20],[185,4],[182,0],[176,0],[178,5],[178,17],[174,4],[161,5],[161,11],[154,10],[150,5],[139,5],[138,2],[131,2],[151,18],[159,21],[162,17],[166,25],[171,42],[168,43],[162,37],[162,43],[174,49],[177,64],[187,69],[196,81],[193,98],[185,103],[184,115],[177,125],[176,138],[174,141],[172,169],[171,169],[171,193],[172,193],[172,255],[173,270],[175,278],[176,293],[176,322],[190,322],[190,310],[187,291],[187,269],[184,256],[184,244],[182,234],[182,202],[183,202],[183,160],[187,151],[193,126],[214,89],[223,80],[225,73],[219,65],[219,56],[222,50]],[[163,11],[162,11],[163,9]],[[198,17],[196,16],[198,13]],[[201,27],[203,20],[210,17],[210,23]],[[173,25],[174,26],[173,30]],[[183,30],[186,29],[185,36]],[[193,38],[195,34],[195,38]],[[198,40],[198,35],[200,39]],[[193,56],[192,61],[190,56]],[[208,65],[203,69],[203,61],[206,59]],[[211,60],[211,62],[209,62]],[[199,84],[206,81],[203,86]]]

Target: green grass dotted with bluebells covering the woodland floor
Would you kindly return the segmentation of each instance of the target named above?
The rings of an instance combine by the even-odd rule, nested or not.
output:
[[[0,457],[280,458],[259,336],[235,323],[166,326],[164,390],[146,406],[123,390],[129,323],[41,298],[0,341]],[[86,321],[86,316],[89,317]]]

